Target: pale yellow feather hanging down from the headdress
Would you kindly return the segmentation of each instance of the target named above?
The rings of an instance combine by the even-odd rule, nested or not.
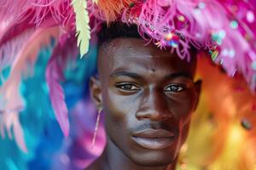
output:
[[[90,26],[89,14],[87,11],[86,0],[73,0],[73,9],[76,14],[76,37],[81,58],[89,50],[90,45]]]

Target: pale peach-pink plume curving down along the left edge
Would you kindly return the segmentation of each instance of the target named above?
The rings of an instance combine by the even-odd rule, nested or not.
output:
[[[20,108],[23,107],[23,99],[20,96],[19,86],[22,74],[26,73],[27,68],[32,68],[34,65],[40,48],[44,45],[48,45],[51,38],[59,37],[60,28],[40,28],[32,34],[27,42],[23,42],[23,46],[20,48],[15,56],[12,64],[10,65],[11,71],[6,82],[3,82],[3,86],[0,88],[0,111],[6,116],[0,122],[0,127],[3,135],[3,127],[7,128],[8,132],[11,132],[11,127],[14,126],[16,142],[20,144],[20,147],[24,149],[24,141],[20,136],[17,136],[19,132],[20,123],[16,121],[15,116],[9,116],[10,114],[18,114]],[[22,129],[20,129],[21,132]],[[9,133],[10,134],[10,133]],[[22,134],[22,133],[20,133]],[[9,135],[10,137],[10,135]]]

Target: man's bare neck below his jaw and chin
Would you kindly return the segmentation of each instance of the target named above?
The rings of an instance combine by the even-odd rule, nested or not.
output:
[[[105,147],[102,156],[99,158],[104,167],[104,170],[175,170],[176,161],[172,164],[162,166],[162,167],[146,167],[137,165],[135,162],[131,161],[128,156],[125,156],[122,150],[113,144],[111,139],[108,139],[107,146]]]

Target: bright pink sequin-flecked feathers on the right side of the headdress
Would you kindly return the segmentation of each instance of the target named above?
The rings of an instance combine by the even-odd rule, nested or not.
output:
[[[229,76],[240,71],[256,90],[256,24],[246,20],[247,12],[255,15],[253,1],[230,0],[147,0],[125,8],[122,21],[137,24],[138,30],[148,34],[150,41],[160,48],[168,46],[166,35],[172,31],[183,35],[176,52],[181,59],[189,60],[190,44],[206,50],[218,46],[214,62],[222,65]],[[254,1],[255,2],[255,1]],[[239,7],[237,12],[233,7]],[[178,17],[181,16],[182,20]],[[237,23],[232,27],[231,21]],[[236,24],[235,23],[235,24]],[[170,46],[170,45],[169,45]],[[174,50],[172,49],[171,52]],[[253,66],[252,66],[253,65]]]

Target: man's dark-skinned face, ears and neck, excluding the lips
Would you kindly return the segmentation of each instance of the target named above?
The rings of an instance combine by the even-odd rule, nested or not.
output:
[[[201,89],[201,81],[193,80],[195,60],[145,46],[142,39],[117,38],[99,49],[98,71],[90,94],[103,111],[107,145],[87,169],[175,169]],[[145,129],[172,133],[170,144],[143,147],[134,139]]]

